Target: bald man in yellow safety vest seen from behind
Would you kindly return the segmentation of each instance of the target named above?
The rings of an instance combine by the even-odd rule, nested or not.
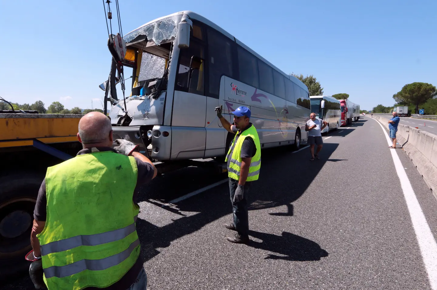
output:
[[[156,168],[127,140],[112,149],[111,121],[102,113],[80,119],[77,139],[83,150],[49,167],[38,193],[29,270],[35,288],[145,290],[136,199]]]

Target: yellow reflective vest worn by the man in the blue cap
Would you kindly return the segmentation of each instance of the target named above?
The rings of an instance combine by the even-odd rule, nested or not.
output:
[[[238,140],[237,139],[238,137]],[[258,179],[260,174],[260,164],[261,164],[261,146],[260,146],[260,140],[258,137],[257,130],[252,125],[250,128],[243,131],[243,133],[237,132],[234,139],[232,140],[232,144],[228,150],[228,154],[226,155],[225,161],[229,160],[229,167],[228,167],[228,176],[230,178],[239,180],[240,177],[240,171],[241,171],[241,165],[242,165],[242,159],[241,159],[241,147],[243,145],[244,139],[250,136],[253,139],[253,142],[255,143],[255,146],[257,148],[257,151],[255,153],[255,156],[252,157],[251,163],[249,166],[249,174],[247,175],[246,181],[255,181]]]

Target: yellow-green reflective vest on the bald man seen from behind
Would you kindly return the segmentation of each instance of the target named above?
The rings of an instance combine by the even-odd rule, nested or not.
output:
[[[137,177],[135,158],[112,151],[47,169],[47,219],[37,237],[49,290],[109,287],[132,268],[140,253]]]

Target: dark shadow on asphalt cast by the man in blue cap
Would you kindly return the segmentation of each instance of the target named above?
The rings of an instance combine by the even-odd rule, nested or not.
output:
[[[320,248],[318,243],[289,232],[282,232],[282,235],[272,235],[249,231],[249,235],[262,240],[262,242],[251,241],[248,246],[282,255],[269,254],[264,259],[303,262],[319,261],[320,258],[328,256],[328,252]]]

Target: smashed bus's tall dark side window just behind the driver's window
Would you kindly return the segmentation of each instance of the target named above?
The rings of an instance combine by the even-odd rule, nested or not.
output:
[[[235,78],[232,72],[232,54],[232,40],[208,27],[208,96],[218,98],[222,75]]]

